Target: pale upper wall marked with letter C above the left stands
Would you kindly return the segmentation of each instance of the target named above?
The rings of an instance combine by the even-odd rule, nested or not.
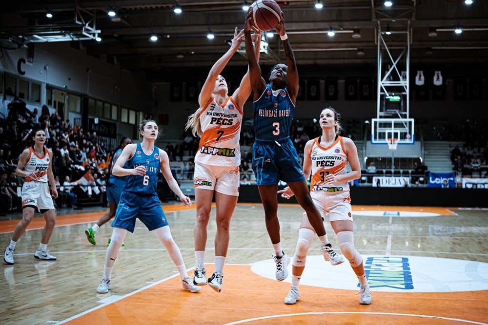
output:
[[[67,91],[110,101],[124,107],[152,112],[151,83],[143,74],[120,69],[119,64],[107,63],[104,57],[87,56],[72,48],[69,42],[36,43],[32,63],[22,64],[20,76],[17,62],[27,60],[27,49],[3,50],[0,70],[55,87],[67,86]],[[43,104],[41,98],[41,104]]]

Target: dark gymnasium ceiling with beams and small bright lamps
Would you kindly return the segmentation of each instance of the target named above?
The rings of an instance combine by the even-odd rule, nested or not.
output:
[[[250,2],[250,1],[248,1]],[[278,1],[297,63],[316,66],[376,64],[378,29],[388,46],[404,48],[410,32],[411,62],[488,62],[488,1],[474,0],[317,0]],[[175,14],[176,5],[183,13]],[[88,55],[120,62],[130,71],[151,73],[194,67],[208,69],[229,47],[235,26],[242,28],[244,0],[36,0],[2,4],[0,45],[4,48],[44,42],[71,41]],[[113,9],[116,16],[107,15]],[[53,18],[46,18],[46,12]],[[93,19],[95,17],[95,19]],[[84,21],[99,30],[102,40],[81,34]],[[95,24],[93,24],[95,22]],[[455,34],[459,26],[462,34]],[[332,28],[336,34],[327,36]],[[211,31],[214,39],[206,35]],[[149,38],[156,35],[155,42]],[[92,33],[90,37],[94,37]],[[73,40],[75,39],[75,40]],[[279,37],[266,38],[262,61],[284,59]],[[245,65],[244,55],[231,60]]]

